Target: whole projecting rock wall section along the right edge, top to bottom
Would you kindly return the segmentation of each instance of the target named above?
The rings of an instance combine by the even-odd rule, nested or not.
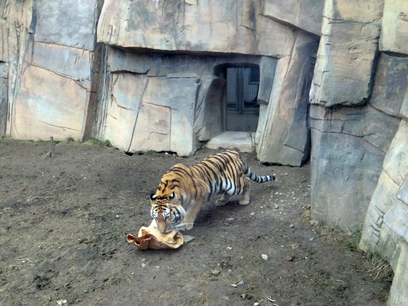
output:
[[[360,247],[395,272],[388,305],[408,304],[407,12],[402,0],[327,0],[310,92],[312,217],[364,223]]]

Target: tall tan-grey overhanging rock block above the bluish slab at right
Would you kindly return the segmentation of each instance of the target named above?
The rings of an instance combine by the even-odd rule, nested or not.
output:
[[[382,2],[325,2],[311,102],[326,107],[363,105],[371,95]],[[356,6],[359,10],[355,10]]]

